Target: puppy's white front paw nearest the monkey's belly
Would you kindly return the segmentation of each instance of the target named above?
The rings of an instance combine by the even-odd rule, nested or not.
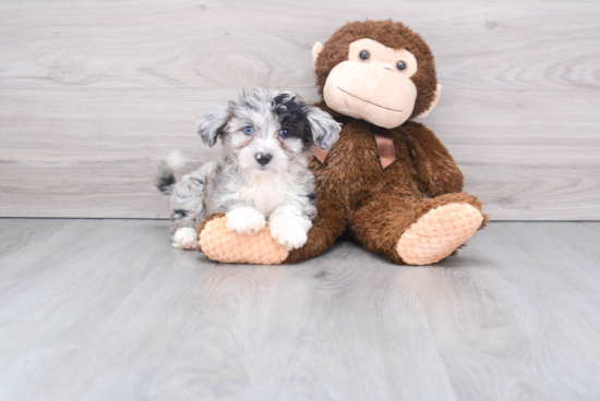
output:
[[[268,227],[271,236],[291,251],[304,245],[312,221],[299,207],[284,205],[271,214]]]

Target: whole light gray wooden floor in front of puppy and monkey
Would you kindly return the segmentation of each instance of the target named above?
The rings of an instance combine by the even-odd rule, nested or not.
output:
[[[0,220],[0,400],[591,400],[600,222],[436,266],[219,265],[165,220]]]

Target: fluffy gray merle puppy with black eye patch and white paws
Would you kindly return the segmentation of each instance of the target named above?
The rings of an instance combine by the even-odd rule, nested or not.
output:
[[[156,185],[171,194],[172,246],[195,250],[195,226],[214,212],[227,229],[253,235],[269,226],[288,251],[302,246],[316,216],[313,145],[329,150],[339,124],[297,94],[274,89],[244,92],[238,101],[200,120],[208,146],[224,145],[220,160],[202,165],[175,182],[172,162],[157,169]]]

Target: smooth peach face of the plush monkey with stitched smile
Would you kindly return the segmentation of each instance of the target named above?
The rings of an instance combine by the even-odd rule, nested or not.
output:
[[[352,41],[348,60],[329,72],[323,99],[341,114],[393,129],[412,114],[417,87],[410,77],[417,68],[417,59],[406,49],[368,38]]]

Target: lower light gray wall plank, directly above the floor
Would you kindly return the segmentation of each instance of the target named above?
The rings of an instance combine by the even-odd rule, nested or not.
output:
[[[299,92],[317,99],[314,88]],[[204,147],[194,124],[239,90],[2,93],[1,216],[166,218],[155,166],[173,148],[191,160],[188,169],[217,157],[218,146]],[[600,97],[579,90],[563,106],[549,94],[448,89],[424,120],[492,219],[600,219],[600,117],[585,108],[600,108]]]

